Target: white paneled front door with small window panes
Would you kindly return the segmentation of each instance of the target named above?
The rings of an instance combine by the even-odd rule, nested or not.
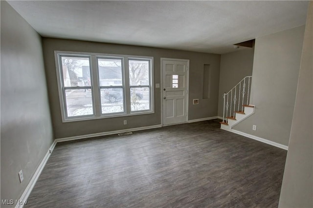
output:
[[[161,58],[163,125],[188,121],[189,60]]]

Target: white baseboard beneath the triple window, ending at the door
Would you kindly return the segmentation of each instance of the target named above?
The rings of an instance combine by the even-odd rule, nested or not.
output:
[[[116,131],[106,131],[106,132],[99,132],[94,134],[85,134],[80,136],[73,136],[73,137],[65,137],[65,138],[59,138],[56,139],[56,142],[66,142],[71,140],[79,140],[79,139],[86,139],[91,137],[99,137],[99,136],[106,136],[106,135],[112,135],[112,134],[118,134],[128,131],[140,131],[140,130],[146,130],[151,128],[160,128],[162,125],[149,125],[149,126],[143,126],[143,127],[137,127],[137,128],[128,128],[128,129],[122,129],[122,130],[116,130]]]

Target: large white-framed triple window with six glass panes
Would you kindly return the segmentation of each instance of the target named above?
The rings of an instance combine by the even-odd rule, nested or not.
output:
[[[153,113],[153,58],[55,51],[63,122]]]

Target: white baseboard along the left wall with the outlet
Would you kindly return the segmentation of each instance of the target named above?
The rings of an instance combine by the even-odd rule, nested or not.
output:
[[[33,177],[31,178],[30,182],[28,183],[27,187],[25,188],[21,198],[20,198],[20,202],[25,202],[27,201],[27,198],[30,194],[30,192],[33,190],[41,172],[43,171],[44,167],[45,167],[45,164],[47,163],[55,145],[57,144],[57,142],[54,140],[52,145],[50,146],[50,148],[48,149],[47,153],[45,153],[45,157],[44,159],[41,161],[41,163],[39,164],[35,174],[33,175]],[[17,204],[15,206],[15,208],[22,208],[24,205],[22,204]]]

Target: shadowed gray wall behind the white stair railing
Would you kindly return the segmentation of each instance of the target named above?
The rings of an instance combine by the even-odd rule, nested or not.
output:
[[[244,77],[252,75],[254,48],[222,54],[218,116],[223,117],[223,93],[231,90]]]

